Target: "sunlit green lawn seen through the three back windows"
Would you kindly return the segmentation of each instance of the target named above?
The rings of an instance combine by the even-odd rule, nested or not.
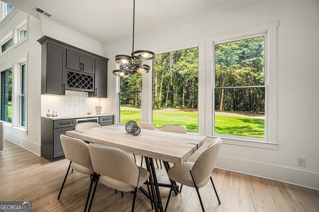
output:
[[[121,123],[141,121],[140,110],[121,110]],[[198,131],[196,112],[183,110],[154,110],[153,123],[157,128],[165,124],[176,124],[186,127],[187,131]],[[237,116],[216,115],[215,133],[264,138],[265,120],[262,118],[245,118]]]

